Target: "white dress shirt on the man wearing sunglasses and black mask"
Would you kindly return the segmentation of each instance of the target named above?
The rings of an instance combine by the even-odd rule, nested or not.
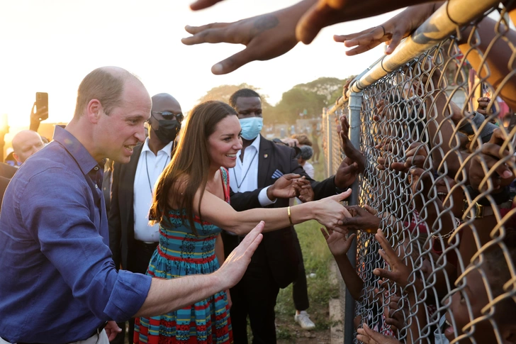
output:
[[[157,155],[154,155],[149,148],[149,138],[143,143],[138,166],[136,167],[134,184],[133,209],[136,240],[145,241],[145,243],[157,243],[159,241],[159,225],[150,226],[149,210],[152,204],[152,193],[159,174],[170,162],[173,144],[174,141],[170,142],[162,150],[159,150]]]

